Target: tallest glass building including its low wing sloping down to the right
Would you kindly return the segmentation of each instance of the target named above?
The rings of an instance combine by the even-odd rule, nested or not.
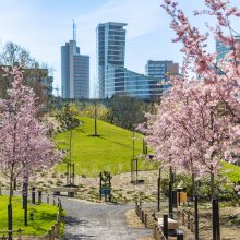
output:
[[[165,74],[143,75],[124,67],[125,23],[104,23],[97,26],[97,67],[99,97],[107,98],[115,94],[151,99],[163,94],[163,86],[157,83]],[[165,62],[165,72],[178,72],[178,64]]]

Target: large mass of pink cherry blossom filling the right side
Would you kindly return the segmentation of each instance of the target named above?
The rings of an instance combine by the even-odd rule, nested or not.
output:
[[[206,50],[211,33],[201,34],[177,1],[165,0],[163,8],[172,17],[170,26],[177,34],[173,41],[183,45],[184,63],[182,74],[171,76],[171,88],[157,113],[148,115],[145,133],[155,157],[165,165],[197,178],[211,173],[213,196],[220,160],[230,160],[231,153],[239,151],[240,46],[232,36],[230,17],[239,17],[240,12],[221,0],[206,0],[205,5],[206,10],[195,14],[216,16],[217,26],[208,28],[230,51],[216,62],[216,53]],[[226,29],[229,34],[225,36]],[[193,72],[196,77],[190,77]]]

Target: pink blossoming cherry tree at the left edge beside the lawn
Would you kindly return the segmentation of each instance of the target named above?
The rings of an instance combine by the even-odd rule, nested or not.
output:
[[[60,160],[61,154],[47,137],[44,121],[37,118],[40,107],[33,89],[23,85],[23,73],[17,68],[5,69],[5,77],[13,77],[13,83],[8,98],[0,99],[0,167],[9,178],[11,206],[16,177],[27,180],[31,173]]]

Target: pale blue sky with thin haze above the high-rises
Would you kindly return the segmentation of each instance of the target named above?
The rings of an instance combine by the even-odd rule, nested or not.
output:
[[[96,74],[96,26],[124,22],[125,67],[144,73],[147,60],[181,62],[179,45],[172,44],[170,19],[160,0],[0,0],[0,41],[14,41],[55,69],[55,86],[61,86],[60,47],[72,38],[72,19],[81,53],[91,56],[91,86]],[[202,0],[180,0],[184,9],[202,9]],[[232,0],[239,4],[240,0]],[[194,4],[193,4],[194,3]],[[205,20],[193,20],[204,25]],[[240,32],[240,22],[235,22]],[[214,41],[209,44],[214,48]],[[93,88],[93,87],[92,87]],[[92,89],[93,95],[93,89]]]

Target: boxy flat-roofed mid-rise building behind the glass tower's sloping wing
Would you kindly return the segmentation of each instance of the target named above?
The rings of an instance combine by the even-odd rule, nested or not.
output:
[[[164,91],[169,88],[167,74],[179,74],[179,64],[173,61],[153,61],[148,60],[145,65],[145,74],[155,81],[152,82],[149,87],[151,94],[163,94]],[[161,84],[160,84],[161,83]]]

